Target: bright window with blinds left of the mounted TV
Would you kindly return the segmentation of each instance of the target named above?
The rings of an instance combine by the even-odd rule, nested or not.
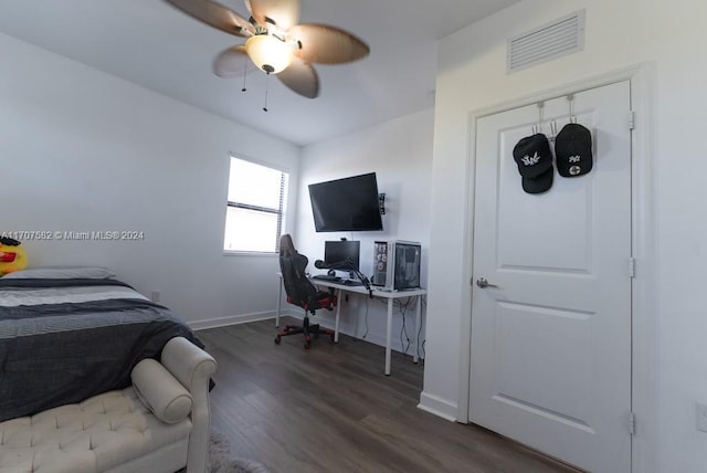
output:
[[[231,157],[224,251],[276,253],[289,175]]]

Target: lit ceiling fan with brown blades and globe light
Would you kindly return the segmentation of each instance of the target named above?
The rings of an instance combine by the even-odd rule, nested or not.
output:
[[[299,0],[245,0],[250,19],[212,0],[167,0],[213,28],[245,38],[213,62],[220,77],[243,73],[243,57],[292,91],[308,98],[319,95],[312,63],[340,64],[365,57],[369,46],[354,34],[328,24],[298,24]]]

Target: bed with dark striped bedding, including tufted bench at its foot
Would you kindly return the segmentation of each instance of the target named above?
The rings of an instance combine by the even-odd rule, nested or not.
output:
[[[202,473],[217,364],[103,267],[0,277],[0,471]]]

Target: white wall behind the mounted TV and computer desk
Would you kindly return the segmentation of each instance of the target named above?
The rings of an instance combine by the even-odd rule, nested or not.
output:
[[[361,272],[368,276],[372,274],[374,240],[419,241],[422,243],[422,286],[426,287],[433,119],[433,111],[429,109],[303,149],[295,246],[309,257],[310,271],[318,272],[314,269],[314,261],[324,257],[326,240],[340,236],[360,240]],[[316,233],[307,186],[365,172],[376,172],[378,190],[386,193],[383,231]],[[341,332],[359,337],[366,333],[368,304],[369,330],[366,338],[384,345],[387,317],[383,303],[361,296],[350,297],[348,303],[344,303]],[[405,327],[412,338],[414,312],[408,314]],[[317,318],[326,320],[325,325],[334,324],[333,314],[319,311]],[[401,349],[401,326],[402,317],[394,316],[392,346],[397,350]],[[414,349],[411,346],[408,354],[413,354]],[[394,367],[392,369],[394,371]]]

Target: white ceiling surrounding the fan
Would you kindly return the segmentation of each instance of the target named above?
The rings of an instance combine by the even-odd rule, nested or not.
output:
[[[212,29],[163,0],[0,0],[0,31],[217,115],[307,145],[434,105],[436,40],[518,0],[302,0],[302,23],[348,30],[370,56],[316,65],[308,99],[251,69],[211,72],[243,39]],[[221,2],[247,18],[242,0]],[[268,112],[263,112],[265,85]]]

